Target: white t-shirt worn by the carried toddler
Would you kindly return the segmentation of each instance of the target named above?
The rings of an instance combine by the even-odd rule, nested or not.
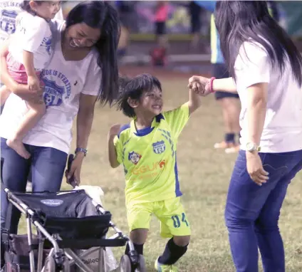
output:
[[[33,53],[33,66],[42,70],[51,57],[51,37],[48,21],[21,12],[16,18],[16,31],[11,37],[9,52],[19,63],[24,63],[24,50]]]

